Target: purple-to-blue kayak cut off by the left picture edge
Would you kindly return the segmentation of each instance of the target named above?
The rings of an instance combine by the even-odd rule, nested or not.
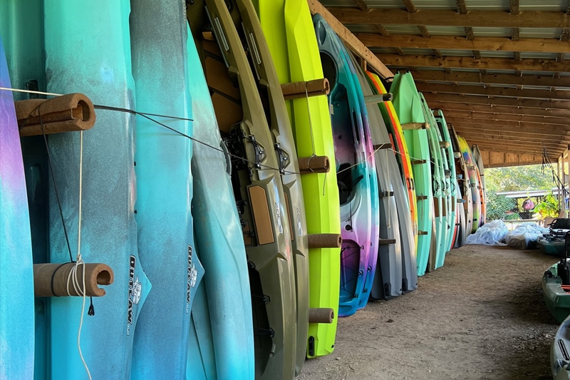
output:
[[[11,88],[0,38],[0,86]],[[0,378],[32,379],[33,259],[20,135],[10,91],[0,90]]]

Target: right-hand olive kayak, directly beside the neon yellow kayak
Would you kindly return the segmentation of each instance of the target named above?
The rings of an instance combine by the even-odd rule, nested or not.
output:
[[[295,269],[296,341],[299,341],[296,342],[295,373],[299,374],[305,361],[305,337],[309,329],[309,248],[306,235],[303,188],[295,141],[279,77],[252,1],[227,0],[226,4],[236,29],[242,37],[244,50],[249,53],[249,64],[254,78],[257,80],[261,102],[267,107],[266,119],[279,159],[281,183],[290,221],[289,230],[291,231],[291,248]],[[252,53],[253,51],[256,53]]]

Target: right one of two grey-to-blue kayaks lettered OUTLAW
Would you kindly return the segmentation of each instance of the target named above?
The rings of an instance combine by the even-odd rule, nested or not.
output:
[[[180,379],[186,374],[190,297],[197,276],[192,233],[192,94],[187,59],[186,7],[133,1],[130,24],[137,116],[138,251],[152,282],[133,346],[131,379]],[[190,39],[192,39],[190,37]],[[194,74],[192,74],[194,75]],[[182,133],[183,135],[181,135]],[[192,263],[192,265],[190,265]]]

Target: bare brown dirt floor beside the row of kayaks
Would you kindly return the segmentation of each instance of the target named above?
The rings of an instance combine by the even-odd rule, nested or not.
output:
[[[297,379],[551,379],[558,324],[541,291],[556,257],[467,245],[416,292],[338,321],[333,354]]]

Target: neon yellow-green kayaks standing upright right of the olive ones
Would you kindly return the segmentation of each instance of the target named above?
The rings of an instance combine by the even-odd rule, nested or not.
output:
[[[261,28],[281,83],[323,78],[311,12],[305,0],[254,0]],[[326,96],[286,101],[297,155],[327,156],[335,162]],[[301,176],[309,234],[340,234],[340,202],[334,170]],[[331,324],[309,324],[306,356],[331,354],[336,337],[340,287],[340,249],[309,250],[309,307],[331,308]],[[299,363],[298,363],[299,367]],[[299,368],[298,368],[299,370]]]

